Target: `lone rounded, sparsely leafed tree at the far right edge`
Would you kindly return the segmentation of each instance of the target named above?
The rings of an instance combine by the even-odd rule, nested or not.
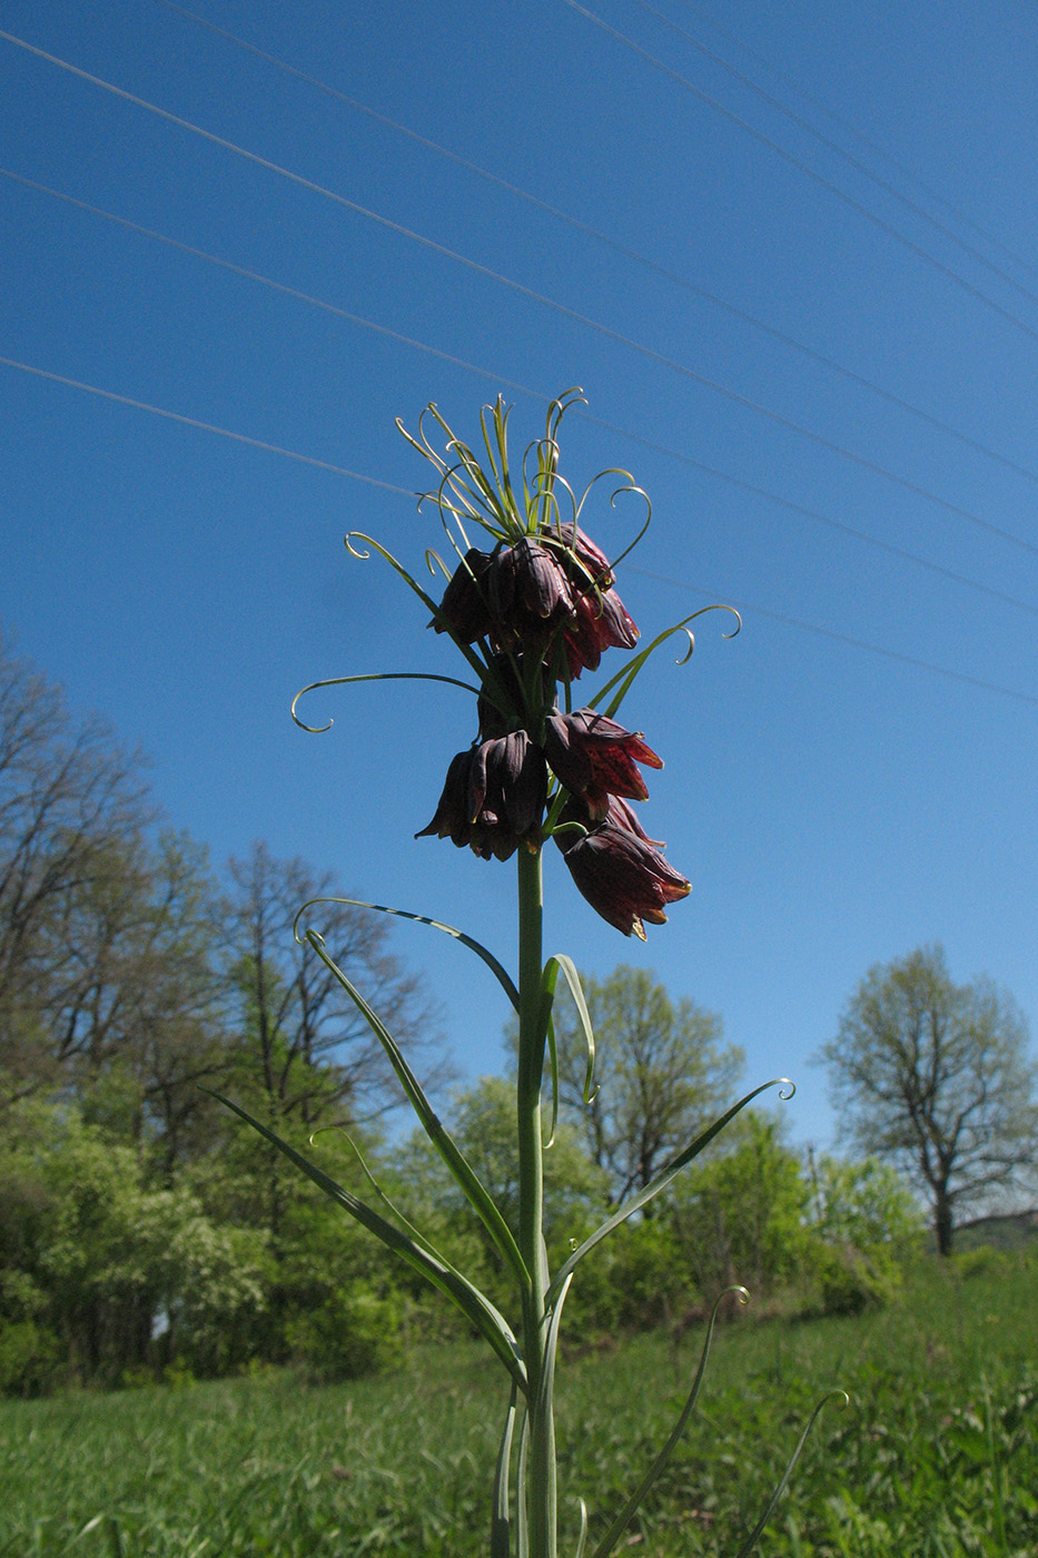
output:
[[[955,985],[941,947],[870,969],[821,1059],[843,1134],[927,1198],[943,1256],[957,1215],[1033,1164],[1027,1024],[988,978]]]

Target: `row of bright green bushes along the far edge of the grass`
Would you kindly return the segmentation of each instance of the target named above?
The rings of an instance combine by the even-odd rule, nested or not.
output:
[[[454,1123],[508,1215],[505,1084],[491,1078],[460,1095]],[[360,1176],[341,1136],[323,1136],[315,1150],[335,1178]],[[380,1153],[376,1142],[368,1154],[393,1197],[497,1293],[496,1251],[427,1147]],[[567,1125],[547,1161],[545,1228],[558,1262],[602,1217],[608,1183]],[[595,1251],[567,1331],[588,1345],[681,1321],[736,1282],[751,1290],[753,1313],[859,1313],[896,1296],[898,1250],[915,1226],[890,1170],[823,1159],[806,1173],[775,1120],[748,1114],[653,1217],[633,1218]],[[963,1278],[968,1268],[955,1262]],[[206,1379],[256,1363],[351,1379],[397,1365],[411,1340],[463,1334],[421,1279],[302,1181],[276,1178],[234,1133],[218,1158],[164,1184],[147,1154],[70,1105],[25,1103],[5,1116],[2,1393]]]

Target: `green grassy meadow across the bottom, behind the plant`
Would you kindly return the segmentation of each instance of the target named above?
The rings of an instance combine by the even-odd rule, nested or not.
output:
[[[800,1427],[826,1407],[765,1532],[765,1555],[1038,1553],[1038,1256],[921,1264],[882,1313],[740,1321],[628,1532],[653,1558],[734,1555]],[[592,1541],[680,1410],[697,1343],[664,1335],[563,1362],[561,1552],[577,1496]],[[0,1404],[0,1553],[9,1558],[468,1558],[486,1552],[505,1398],[472,1346],[334,1388],[290,1376]]]

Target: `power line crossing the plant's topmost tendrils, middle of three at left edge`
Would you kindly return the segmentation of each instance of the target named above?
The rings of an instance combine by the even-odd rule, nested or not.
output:
[[[26,189],[36,190],[42,195],[51,196],[53,199],[73,206],[76,210],[84,210],[94,217],[101,217],[103,220],[115,223],[120,227],[126,227],[131,232],[136,232],[145,238],[153,238],[157,243],[168,245],[171,249],[176,249],[181,254],[189,254],[193,259],[204,260],[207,265],[215,265],[220,270],[229,271],[232,276],[242,276],[248,280],[257,282],[260,287],[270,288],[271,291],[282,293],[284,296],[293,298],[298,302],[304,302],[313,308],[320,308],[326,313],[330,313],[335,318],[344,319],[346,323],[357,326],[358,329],[371,330],[383,338],[396,341],[401,346],[425,352],[427,355],[432,355],[440,361],[450,363],[454,368],[461,368],[466,372],[491,380],[499,388],[507,388],[516,391],[517,394],[530,396],[533,400],[539,400],[544,405],[547,405],[552,399],[541,390],[533,390],[528,385],[519,383],[513,379],[505,379],[502,374],[496,374],[488,368],[480,368],[477,363],[471,363],[463,357],[455,357],[450,352],[444,352],[436,346],[430,346],[427,341],[419,341],[415,337],[404,335],[401,330],[393,330],[388,326],[377,324],[374,319],[366,319],[363,315],[352,313],[349,308],[341,308],[338,304],[329,302],[324,298],[315,298],[312,293],[301,291],[296,287],[288,287],[284,282],[274,280],[270,276],[263,276],[260,271],[249,270],[243,265],[235,265],[232,260],[224,260],[218,254],[210,254],[207,249],[198,249],[190,243],[182,243],[179,238],[173,238],[165,232],[157,232],[154,227],[145,227],[137,221],[129,221],[126,217],[118,217],[115,215],[115,212],[104,210],[100,206],[90,206],[87,201],[81,201],[72,195],[62,193],[61,190],[50,189],[47,184],[37,184],[36,179],[23,178],[23,174],[12,173],[9,168],[0,168],[0,174],[3,174],[3,178],[14,179],[17,184],[25,185]],[[938,575],[940,578],[946,578],[951,583],[962,584],[966,589],[976,590],[982,595],[988,595],[991,600],[997,600],[1002,605],[1015,606],[1018,611],[1026,611],[1030,615],[1038,615],[1038,606],[1019,600],[1015,595],[1008,595],[1004,590],[994,589],[990,584],[982,584],[977,580],[971,580],[966,575],[957,573],[954,569],[948,569],[940,562],[930,562],[927,558],[921,558],[918,553],[909,552],[906,547],[898,547],[893,542],[881,541],[877,536],[870,536],[867,531],[857,530],[856,527],[848,525],[843,520],[834,519],[829,514],[820,514],[817,509],[806,508],[803,503],[796,503],[792,499],[782,497],[778,492],[770,492],[767,488],[756,486],[754,483],[747,481],[742,477],[734,477],[726,471],[720,471],[715,466],[709,466],[701,460],[695,460],[692,455],[686,455],[681,450],[670,449],[667,444],[656,442],[655,439],[645,438],[641,433],[634,433],[627,427],[619,427],[614,422],[606,422],[598,416],[592,416],[589,411],[577,410],[574,414],[580,416],[583,421],[594,424],[595,427],[602,427],[609,433],[616,433],[617,436],[627,438],[631,442],[641,444],[645,449],[651,449],[655,453],[661,453],[670,460],[676,460],[681,464],[692,467],[694,471],[701,471],[706,475],[715,477],[720,481],[726,481],[743,492],[751,492],[754,497],[762,497],[770,503],[778,503],[779,506],[787,508],[793,514],[800,514],[801,517],[810,519],[820,525],[828,525],[831,530],[839,530],[843,534],[853,536],[854,539],[863,542],[865,545],[888,553],[890,556],[896,556],[901,558],[902,561],[913,562],[918,567]]]

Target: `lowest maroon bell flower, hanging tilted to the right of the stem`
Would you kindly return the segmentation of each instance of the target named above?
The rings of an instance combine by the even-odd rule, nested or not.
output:
[[[666,905],[692,891],[659,851],[616,823],[600,823],[564,849],[563,858],[591,907],[625,936],[642,941],[642,921],[662,925]]]

